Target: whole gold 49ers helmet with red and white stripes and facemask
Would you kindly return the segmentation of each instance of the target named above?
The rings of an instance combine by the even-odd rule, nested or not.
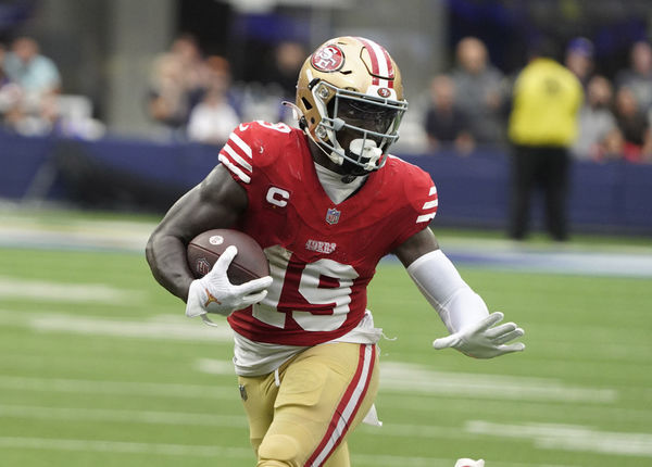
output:
[[[301,128],[355,175],[383,167],[408,109],[397,64],[362,37],[330,39],[305,60],[296,104]]]

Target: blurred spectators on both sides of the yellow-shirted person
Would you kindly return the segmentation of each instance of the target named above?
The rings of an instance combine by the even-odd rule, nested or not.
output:
[[[489,60],[482,41],[466,37],[456,45],[455,65],[430,84],[424,126],[431,149],[442,144],[469,154],[478,144],[507,142],[507,119],[516,76],[505,76]],[[578,135],[570,148],[579,160],[623,157],[652,162],[652,47],[631,46],[629,67],[613,79],[597,74],[594,48],[582,37],[569,41],[563,65],[584,89]]]

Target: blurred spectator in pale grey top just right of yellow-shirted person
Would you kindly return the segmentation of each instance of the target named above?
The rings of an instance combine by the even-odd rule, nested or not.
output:
[[[579,112],[578,136],[572,148],[577,160],[604,161],[618,157],[623,135],[612,113],[613,89],[604,76],[593,76],[587,100]]]

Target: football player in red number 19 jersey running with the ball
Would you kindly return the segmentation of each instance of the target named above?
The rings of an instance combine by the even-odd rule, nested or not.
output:
[[[328,40],[300,71],[294,109],[299,128],[250,122],[233,131],[221,164],[156,227],[147,257],[187,316],[221,314],[233,328],[258,466],[342,467],[347,436],[375,415],[381,331],[366,289],[383,256],[398,256],[449,329],[436,349],[494,357],[522,351],[510,342],[523,330],[498,325],[502,314],[488,313],[439,249],[430,176],[388,154],[408,102],[386,49]],[[253,237],[271,277],[231,285],[229,247],[195,279],[186,245],[213,228]]]

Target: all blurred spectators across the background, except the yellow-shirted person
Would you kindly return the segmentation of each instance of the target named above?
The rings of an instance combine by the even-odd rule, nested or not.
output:
[[[143,112],[174,140],[215,144],[243,121],[290,122],[281,102],[293,101],[306,53],[301,43],[279,43],[265,58],[266,81],[235,83],[226,58],[206,56],[193,36],[180,35],[152,60]],[[579,37],[566,45],[562,59],[585,92],[572,154],[579,160],[652,162],[650,42],[634,43],[629,66],[612,77],[595,73],[594,56],[591,41]],[[453,62],[431,78],[427,105],[414,106],[426,151],[452,148],[464,155],[486,144],[509,143],[516,76],[496,67],[486,45],[475,37],[455,45]],[[93,138],[104,131],[83,97],[62,93],[57,64],[28,37],[0,43],[0,122],[24,135]]]

